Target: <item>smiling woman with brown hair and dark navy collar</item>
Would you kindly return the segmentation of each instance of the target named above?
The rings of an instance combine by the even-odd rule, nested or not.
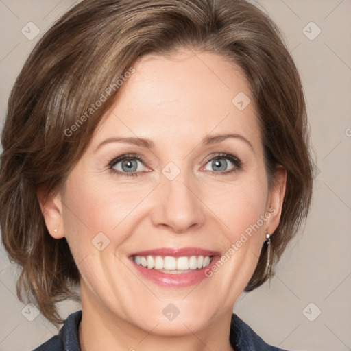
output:
[[[244,0],[86,0],[39,41],[2,134],[1,229],[36,350],[280,350],[232,307],[308,213],[298,72]],[[80,288],[80,294],[76,288]]]

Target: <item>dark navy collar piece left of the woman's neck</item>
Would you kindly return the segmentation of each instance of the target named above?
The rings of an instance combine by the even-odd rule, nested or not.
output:
[[[33,351],[80,351],[78,328],[82,319],[82,310],[69,315],[58,335],[38,346]]]

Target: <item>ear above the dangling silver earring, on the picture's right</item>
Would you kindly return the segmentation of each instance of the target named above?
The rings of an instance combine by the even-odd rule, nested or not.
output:
[[[270,189],[269,213],[271,217],[268,221],[267,232],[273,233],[278,227],[280,216],[282,215],[282,202],[287,186],[287,171],[281,165],[276,167],[274,185]]]

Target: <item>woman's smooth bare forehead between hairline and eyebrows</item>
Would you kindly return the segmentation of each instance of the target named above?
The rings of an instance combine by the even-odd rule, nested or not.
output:
[[[138,60],[134,69],[93,144],[114,134],[179,146],[184,139],[221,132],[243,134],[252,143],[261,139],[250,86],[227,58],[193,51],[153,54]]]

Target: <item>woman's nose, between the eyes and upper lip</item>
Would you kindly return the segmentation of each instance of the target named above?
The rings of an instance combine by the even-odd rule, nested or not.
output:
[[[181,234],[204,225],[204,204],[197,195],[197,187],[184,178],[181,175],[175,180],[163,178],[157,186],[151,210],[154,226]]]

